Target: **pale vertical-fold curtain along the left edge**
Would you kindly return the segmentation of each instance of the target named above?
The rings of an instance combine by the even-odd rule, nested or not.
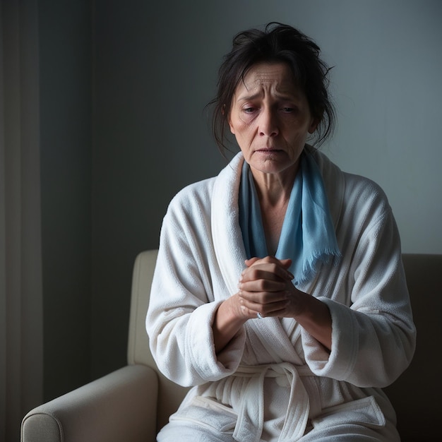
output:
[[[37,0],[0,3],[0,441],[42,402]]]

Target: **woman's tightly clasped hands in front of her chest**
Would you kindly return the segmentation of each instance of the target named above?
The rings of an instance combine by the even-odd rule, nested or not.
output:
[[[239,304],[246,318],[261,316],[294,317],[299,290],[292,284],[288,268],[292,261],[273,256],[246,260],[246,269],[239,278]]]

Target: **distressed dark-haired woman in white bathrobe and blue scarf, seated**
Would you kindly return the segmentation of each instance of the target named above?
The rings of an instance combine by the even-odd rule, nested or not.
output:
[[[220,68],[215,138],[241,152],[174,197],[146,327],[193,386],[158,441],[398,441],[381,388],[415,329],[383,191],[306,144],[333,131],[328,68],[287,25],[241,32]]]

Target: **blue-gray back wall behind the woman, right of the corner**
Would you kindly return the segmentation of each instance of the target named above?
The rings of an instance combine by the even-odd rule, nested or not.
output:
[[[74,273],[80,275],[77,287],[83,291],[71,306],[71,289],[61,289],[58,296],[66,302],[59,309],[65,317],[90,303],[90,311],[83,317],[76,313],[76,320],[83,321],[77,326],[84,340],[66,329],[62,335],[66,345],[73,342],[78,364],[90,369],[92,378],[126,363],[133,260],[138,251],[157,246],[170,198],[225,165],[204,107],[215,92],[222,55],[234,33],[244,28],[277,20],[318,42],[335,66],[331,91],[339,120],[335,137],[323,150],[342,169],[383,186],[404,251],[442,253],[442,179],[436,170],[442,162],[440,1],[95,0],[90,42],[91,2],[68,3],[83,8],[71,42],[72,51],[80,47],[80,71],[73,71],[72,78],[71,71],[63,73],[70,80],[60,85],[59,94],[78,91],[83,97],[71,114],[81,124],[69,124],[67,139],[73,144],[65,146],[68,152],[53,152],[51,182],[64,183],[66,192],[61,198],[47,188],[51,213],[62,212],[47,225],[67,226],[73,233],[73,255],[65,259],[74,268],[81,263]],[[69,11],[61,16],[76,20]],[[57,32],[66,36],[66,24],[58,25]],[[73,52],[67,57],[68,63],[76,60]],[[56,60],[52,65],[60,68]],[[89,85],[83,75],[89,66],[91,88],[85,91]],[[54,124],[66,115],[53,109],[52,117]],[[76,157],[72,181],[71,172],[60,173],[71,155]],[[69,270],[68,279],[74,273]],[[68,374],[65,378],[74,376],[72,370]],[[61,379],[57,388],[68,385],[68,379]]]

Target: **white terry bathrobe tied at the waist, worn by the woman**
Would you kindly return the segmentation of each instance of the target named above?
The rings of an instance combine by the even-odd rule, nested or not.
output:
[[[294,319],[256,318],[215,354],[215,311],[245,267],[238,154],[217,177],[180,191],[163,221],[146,328],[162,373],[193,388],[159,440],[186,440],[189,429],[203,434],[193,441],[399,440],[381,390],[415,345],[398,229],[374,182],[313,155],[342,258],[298,288],[329,307],[331,351]]]

